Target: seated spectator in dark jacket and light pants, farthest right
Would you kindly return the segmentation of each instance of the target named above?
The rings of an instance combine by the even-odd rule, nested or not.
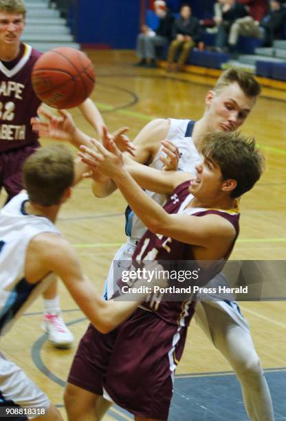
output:
[[[261,2],[261,0],[259,0]],[[286,10],[280,1],[270,1],[270,11],[261,19],[256,21],[253,17],[237,19],[230,28],[228,43],[230,52],[236,53],[236,44],[239,35],[253,36],[263,40],[263,45],[272,45],[274,39],[281,39],[284,35],[286,23]]]

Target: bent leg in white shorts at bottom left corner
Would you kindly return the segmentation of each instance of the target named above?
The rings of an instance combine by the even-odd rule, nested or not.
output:
[[[61,414],[49,398],[23,370],[0,354],[0,407],[34,409],[23,420],[63,421]],[[45,414],[41,415],[41,412]],[[38,413],[40,414],[39,416]],[[22,419],[22,417],[21,417]]]

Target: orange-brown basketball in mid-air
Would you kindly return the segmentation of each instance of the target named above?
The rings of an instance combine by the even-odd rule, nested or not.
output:
[[[36,96],[58,109],[78,107],[94,89],[94,66],[87,56],[74,48],[58,47],[36,61],[32,86]]]

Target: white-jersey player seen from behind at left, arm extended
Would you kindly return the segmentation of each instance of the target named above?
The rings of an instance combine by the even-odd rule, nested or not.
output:
[[[102,300],[83,274],[74,249],[54,225],[74,184],[71,153],[58,146],[39,148],[26,160],[23,179],[27,191],[0,210],[0,334],[47,288],[52,281],[50,274],[62,279],[98,330],[113,330],[131,315],[146,294],[128,303]],[[4,411],[12,407],[14,414],[23,410],[18,412],[17,420],[62,420],[45,393],[1,353],[0,407]]]

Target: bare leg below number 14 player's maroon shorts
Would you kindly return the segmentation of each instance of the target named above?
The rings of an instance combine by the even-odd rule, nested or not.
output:
[[[111,402],[76,385],[67,382],[65,409],[69,421],[98,421],[111,406]]]

